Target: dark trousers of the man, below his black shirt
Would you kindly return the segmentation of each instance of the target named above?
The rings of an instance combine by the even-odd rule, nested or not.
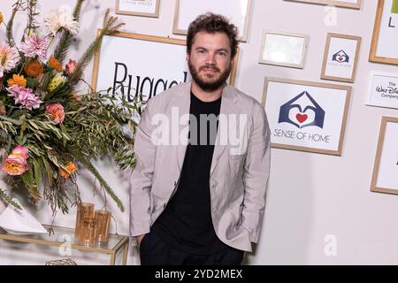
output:
[[[157,237],[147,233],[140,245],[142,265],[240,265],[244,252],[228,247],[211,255],[193,255],[175,249]]]

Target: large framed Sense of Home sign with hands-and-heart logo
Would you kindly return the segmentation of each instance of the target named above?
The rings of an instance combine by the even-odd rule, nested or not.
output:
[[[265,78],[271,146],[341,156],[351,87]]]

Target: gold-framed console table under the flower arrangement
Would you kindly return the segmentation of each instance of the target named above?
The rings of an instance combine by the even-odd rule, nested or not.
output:
[[[116,255],[121,249],[123,249],[123,265],[127,263],[127,251],[128,251],[128,236],[119,234],[110,234],[109,240],[106,243],[95,244],[95,245],[82,245],[74,241],[74,229],[59,227],[59,226],[46,226],[43,225],[49,233],[30,234],[30,235],[17,235],[7,233],[0,228],[0,239],[7,241],[18,241],[25,243],[33,243],[48,247],[61,247],[62,245],[68,245],[70,249],[78,249],[88,252],[96,252],[101,254],[107,254],[111,256],[111,265],[115,265]],[[71,241],[65,241],[65,235],[67,239]],[[60,239],[63,236],[63,239]]]

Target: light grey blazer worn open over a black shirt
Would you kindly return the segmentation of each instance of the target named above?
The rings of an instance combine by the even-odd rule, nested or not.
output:
[[[187,82],[165,90],[149,99],[142,113],[134,140],[131,236],[149,233],[178,187],[188,143],[188,123],[181,123],[184,119],[180,118],[189,113],[190,87]],[[270,129],[264,107],[233,86],[226,85],[223,90],[220,117],[223,115],[235,122],[226,124],[220,120],[218,124],[210,167],[211,218],[221,241],[235,249],[252,251],[251,242],[258,241],[264,217],[270,172]],[[165,118],[170,120],[170,129],[166,130],[169,134],[159,134],[158,122]],[[162,129],[165,128],[164,125]],[[234,132],[234,136],[241,136],[239,144],[230,142],[230,135],[222,138],[226,129],[228,133]],[[160,136],[168,136],[170,142],[154,138]]]

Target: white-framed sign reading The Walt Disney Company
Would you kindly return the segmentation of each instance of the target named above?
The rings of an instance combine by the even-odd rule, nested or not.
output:
[[[398,73],[371,72],[366,104],[398,109]]]

